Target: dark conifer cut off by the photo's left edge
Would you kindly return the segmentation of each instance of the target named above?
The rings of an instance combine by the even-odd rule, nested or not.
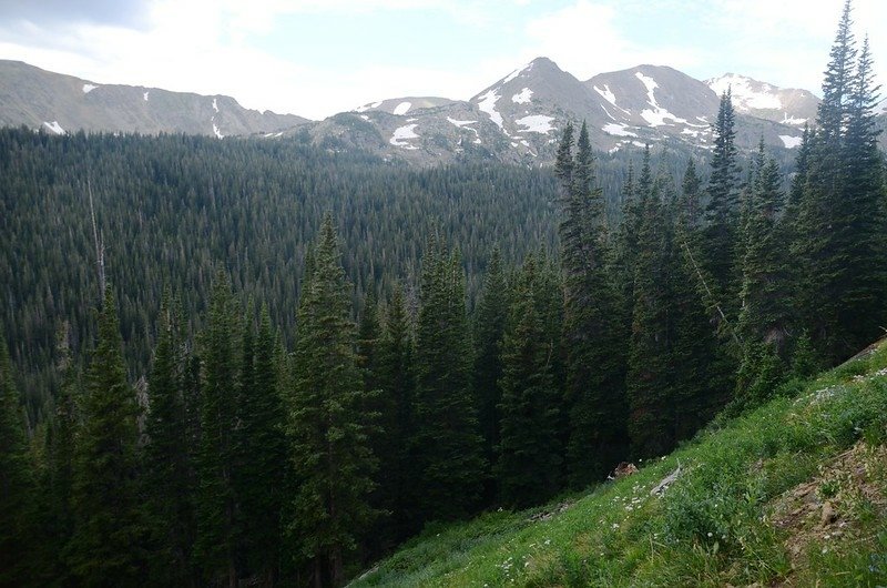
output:
[[[0,586],[26,582],[33,527],[33,463],[6,338],[0,334]]]

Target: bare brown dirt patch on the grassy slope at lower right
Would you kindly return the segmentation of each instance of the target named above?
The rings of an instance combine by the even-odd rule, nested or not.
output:
[[[864,517],[887,515],[886,489],[887,448],[859,442],[774,500],[768,518],[787,531],[792,569],[806,567],[810,549],[826,552],[856,543]]]

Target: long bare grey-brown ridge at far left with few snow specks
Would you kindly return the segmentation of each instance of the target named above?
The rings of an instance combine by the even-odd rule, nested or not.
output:
[[[225,95],[205,97],[154,88],[98,84],[20,61],[0,60],[0,124],[78,130],[247,135],[307,122],[293,114],[258,112]]]

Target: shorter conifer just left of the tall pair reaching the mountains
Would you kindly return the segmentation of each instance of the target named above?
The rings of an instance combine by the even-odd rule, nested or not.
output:
[[[552,377],[551,346],[540,316],[538,270],[523,264],[502,341],[501,440],[497,446],[500,500],[526,507],[559,488],[560,394]]]

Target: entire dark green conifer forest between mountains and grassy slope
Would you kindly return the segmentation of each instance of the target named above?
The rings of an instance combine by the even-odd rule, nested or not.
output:
[[[848,3],[791,166],[730,93],[550,170],[0,130],[0,585],[340,586],[791,394],[887,326],[877,90]]]

